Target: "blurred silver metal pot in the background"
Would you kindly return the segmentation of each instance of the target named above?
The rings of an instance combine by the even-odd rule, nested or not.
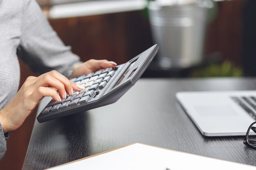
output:
[[[187,68],[202,62],[207,13],[212,6],[210,0],[189,4],[149,2],[151,32],[159,45],[159,66]]]

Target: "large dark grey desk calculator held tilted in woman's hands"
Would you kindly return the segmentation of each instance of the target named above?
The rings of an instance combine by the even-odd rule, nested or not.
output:
[[[155,44],[132,60],[115,68],[110,67],[70,79],[72,82],[81,84],[85,89],[67,96],[66,99],[61,99],[61,102],[52,99],[38,115],[38,122],[42,123],[115,103],[141,77],[158,49],[158,45]]]

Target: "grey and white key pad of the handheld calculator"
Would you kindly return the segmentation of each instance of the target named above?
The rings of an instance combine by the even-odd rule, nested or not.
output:
[[[73,95],[67,95],[66,99],[61,99],[61,102],[57,102],[54,99],[47,104],[47,106],[41,112],[42,114],[56,113],[59,110],[64,110],[76,106],[78,104],[87,103],[94,95],[99,94],[110,79],[115,75],[115,68],[106,68],[105,70],[96,71],[88,75],[82,75],[70,79],[71,82],[79,83],[85,87],[84,90],[80,92],[75,92]]]

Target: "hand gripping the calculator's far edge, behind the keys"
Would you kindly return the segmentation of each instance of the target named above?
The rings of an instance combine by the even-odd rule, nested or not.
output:
[[[108,60],[88,60],[80,66],[73,69],[73,73],[70,78],[79,77],[88,73],[92,73],[101,69],[108,67],[115,67],[117,64],[115,62],[109,62]]]

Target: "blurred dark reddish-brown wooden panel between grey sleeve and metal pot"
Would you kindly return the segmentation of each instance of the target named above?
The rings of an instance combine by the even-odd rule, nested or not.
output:
[[[140,11],[50,20],[54,30],[82,61],[122,64],[152,45],[148,20]]]

